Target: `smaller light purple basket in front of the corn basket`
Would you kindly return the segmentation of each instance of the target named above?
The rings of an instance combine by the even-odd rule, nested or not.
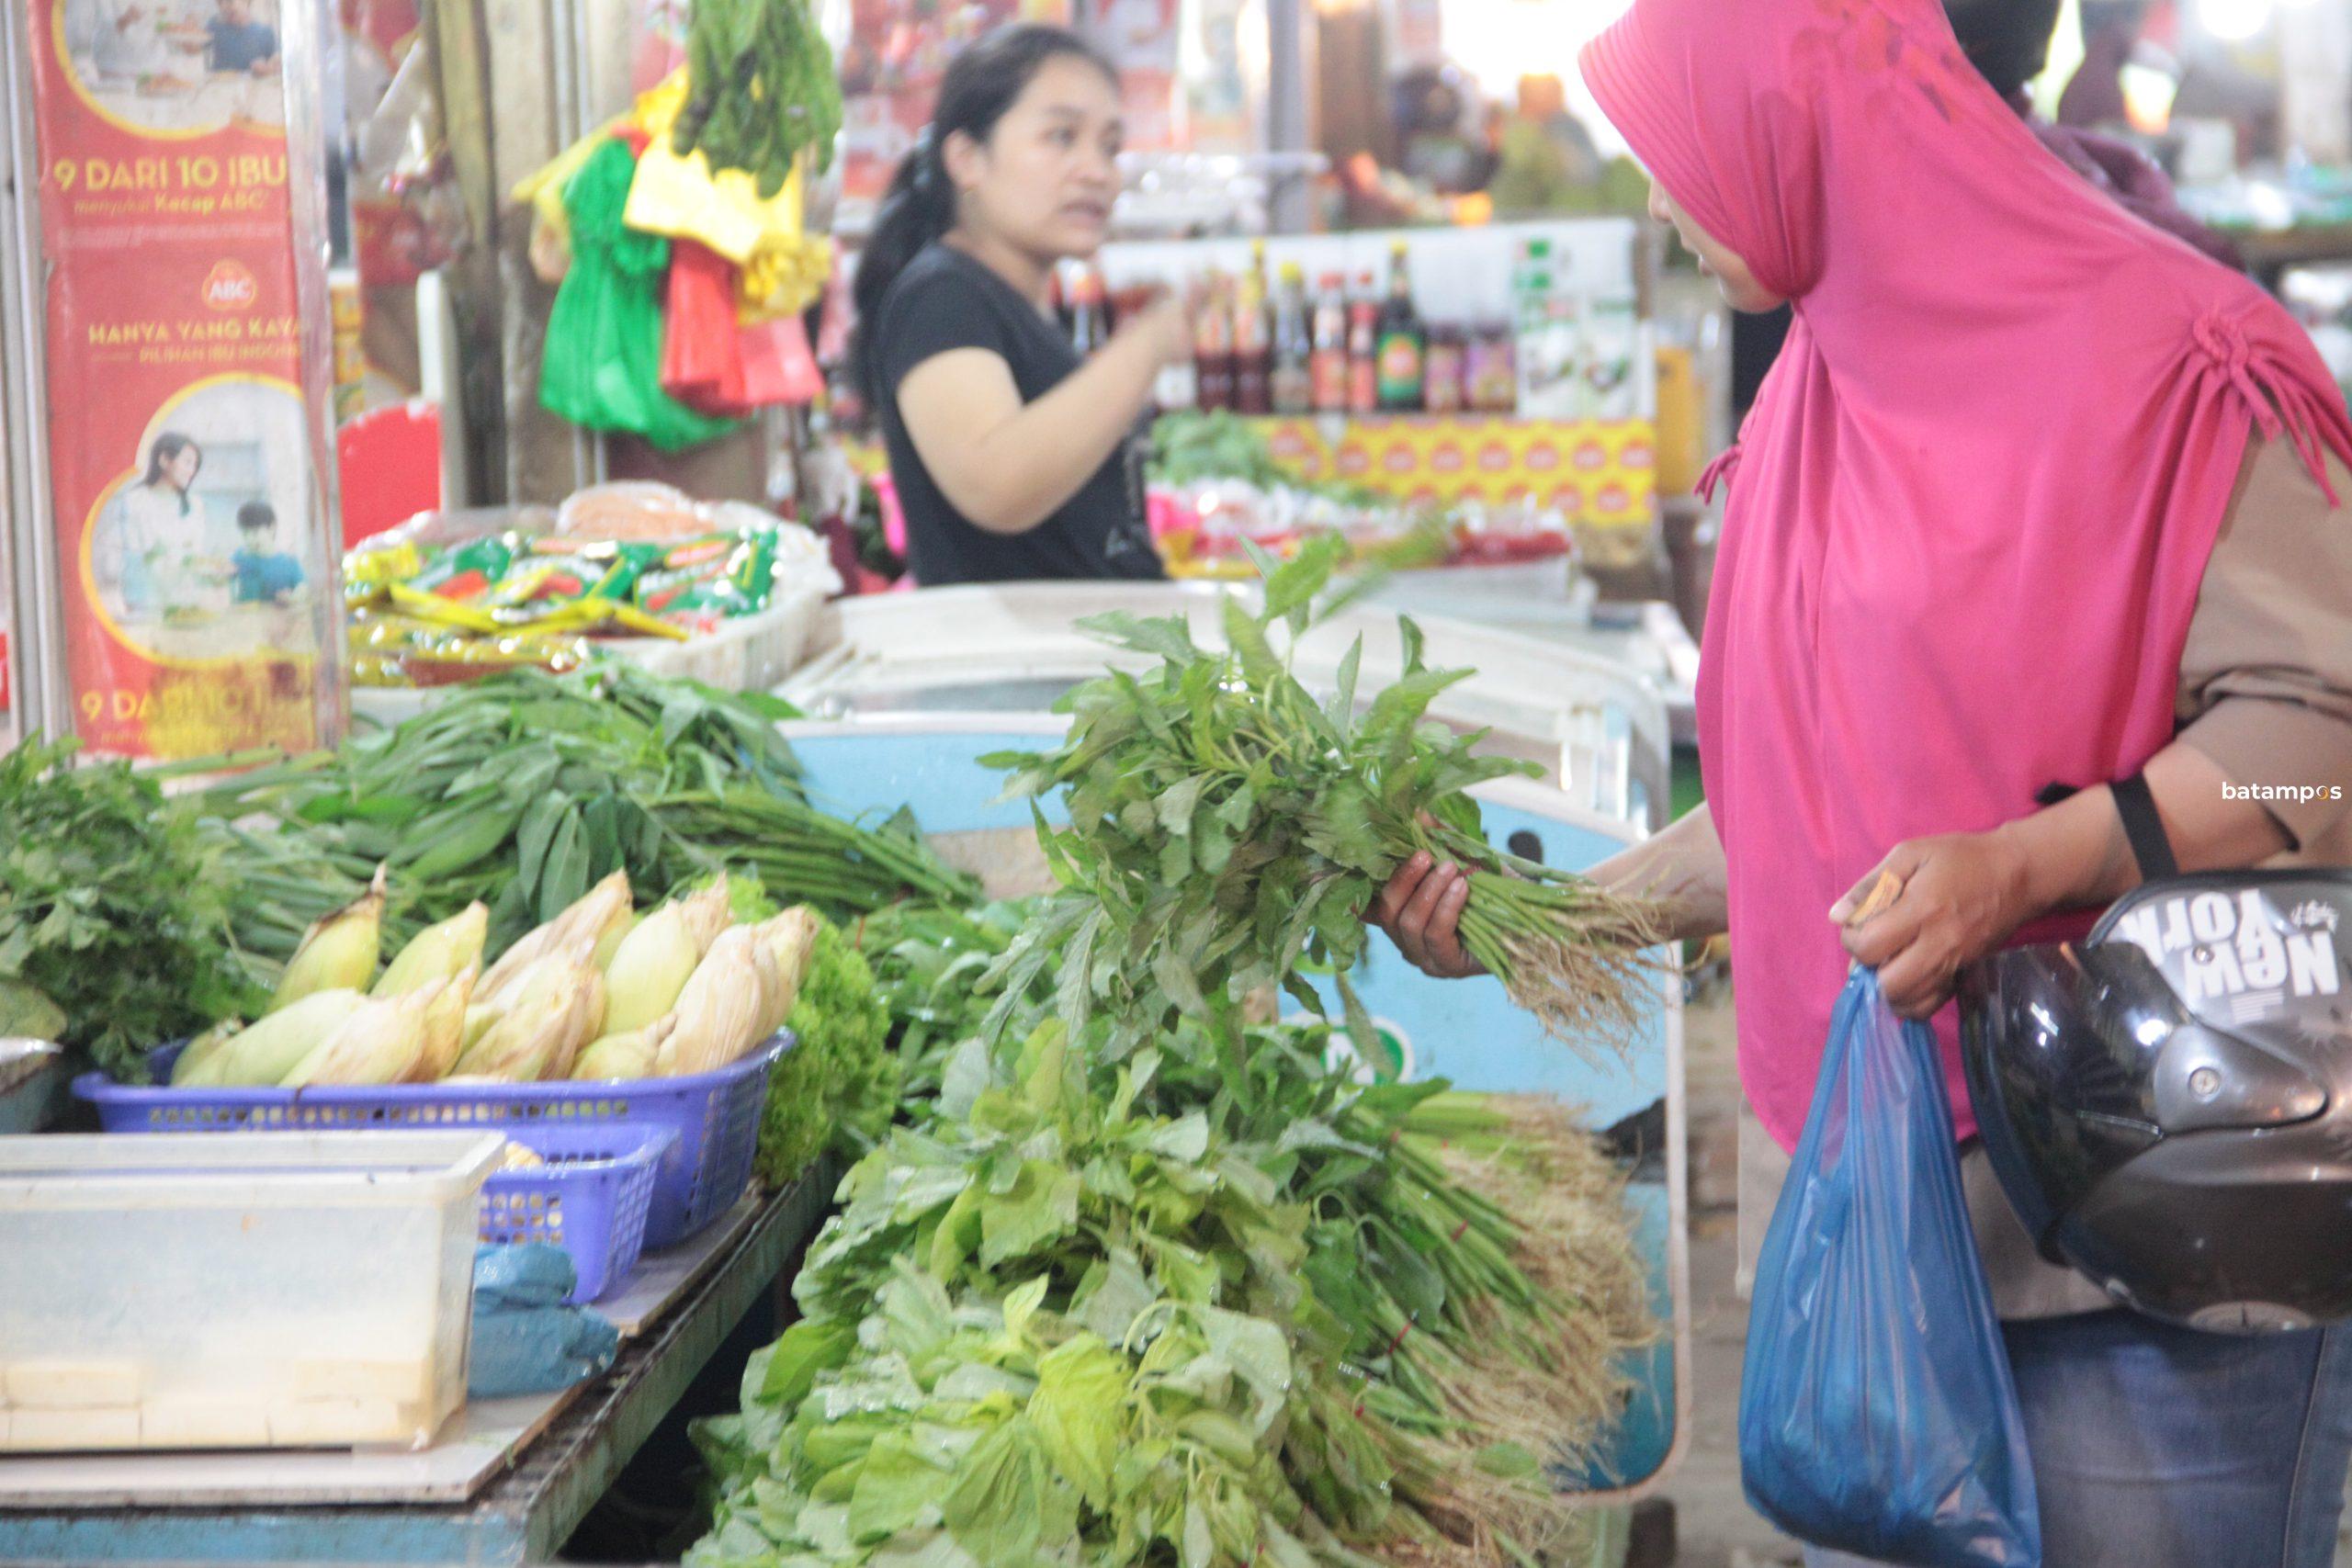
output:
[[[644,1215],[661,1154],[677,1143],[677,1133],[626,1121],[536,1121],[508,1138],[546,1164],[489,1173],[482,1182],[482,1241],[548,1241],[572,1253],[579,1286],[564,1300],[593,1302],[626,1284],[644,1251]]]

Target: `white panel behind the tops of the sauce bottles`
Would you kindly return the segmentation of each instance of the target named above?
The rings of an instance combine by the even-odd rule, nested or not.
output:
[[[1364,228],[1343,235],[1272,235],[1265,266],[1279,273],[1296,261],[1308,287],[1343,273],[1355,287],[1371,273],[1388,287],[1388,247],[1404,240],[1414,266],[1414,308],[1432,322],[1508,322],[1510,270],[1526,240],[1552,244],[1552,275],[1562,289],[1588,296],[1635,292],[1632,219],[1562,219],[1550,223],[1489,223],[1486,228]],[[1176,282],[1209,268],[1249,266],[1249,240],[1134,240],[1105,244],[1098,261],[1112,289]]]

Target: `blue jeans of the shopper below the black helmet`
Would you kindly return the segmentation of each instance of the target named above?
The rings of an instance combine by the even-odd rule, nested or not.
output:
[[[2133,1312],[2002,1324],[2044,1568],[2328,1568],[2352,1326],[2237,1338]],[[1806,1568],[1865,1559],[1806,1547]]]

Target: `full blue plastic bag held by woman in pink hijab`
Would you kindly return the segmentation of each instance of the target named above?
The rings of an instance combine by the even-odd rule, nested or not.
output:
[[[2039,1568],[2018,1392],[1959,1192],[1936,1034],[1856,971],[1764,1234],[1740,1481],[1790,1535],[1917,1568]]]

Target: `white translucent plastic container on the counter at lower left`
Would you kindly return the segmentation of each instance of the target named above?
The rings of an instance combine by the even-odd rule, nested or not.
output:
[[[501,1143],[0,1138],[0,1450],[423,1448]]]

